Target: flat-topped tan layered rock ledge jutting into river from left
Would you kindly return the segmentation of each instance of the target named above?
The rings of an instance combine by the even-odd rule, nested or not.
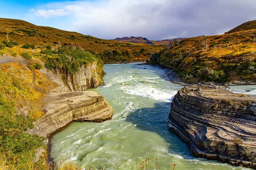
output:
[[[74,121],[103,122],[113,115],[113,108],[96,91],[50,93],[45,103],[46,114],[28,133],[50,137]]]

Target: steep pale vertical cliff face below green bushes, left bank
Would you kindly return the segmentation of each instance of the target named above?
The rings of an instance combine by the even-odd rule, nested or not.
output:
[[[96,61],[81,66],[75,75],[64,74],[60,70],[49,71],[46,68],[41,69],[41,72],[59,85],[53,92],[84,91],[89,88],[97,88],[103,83],[102,76],[104,75],[103,68],[98,67]]]

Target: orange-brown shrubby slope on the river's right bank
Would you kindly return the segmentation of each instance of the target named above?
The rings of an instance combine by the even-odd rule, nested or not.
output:
[[[186,82],[256,81],[256,30],[186,38],[151,58]],[[206,48],[207,45],[207,48]]]

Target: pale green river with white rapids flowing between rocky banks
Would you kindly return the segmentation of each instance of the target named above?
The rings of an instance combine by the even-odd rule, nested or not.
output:
[[[145,69],[146,68],[146,69]],[[93,91],[102,94],[113,107],[113,118],[103,123],[74,122],[52,138],[56,164],[73,161],[85,167],[107,170],[138,170],[149,158],[149,169],[162,170],[249,170],[230,164],[195,158],[167,125],[170,102],[183,86],[168,80],[165,70],[138,64],[109,64],[105,86]],[[232,87],[250,93],[255,87]],[[92,89],[90,89],[92,90]],[[254,93],[254,91],[252,92]],[[145,165],[145,164],[144,164]]]

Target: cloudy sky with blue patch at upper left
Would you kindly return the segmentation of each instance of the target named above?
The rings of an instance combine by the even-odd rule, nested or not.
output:
[[[102,39],[224,34],[256,20],[256,0],[0,0],[0,17]]]

